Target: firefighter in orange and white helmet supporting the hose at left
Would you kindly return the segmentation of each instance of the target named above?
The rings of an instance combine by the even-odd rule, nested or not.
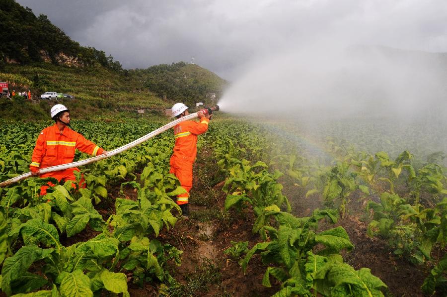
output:
[[[75,149],[94,156],[100,154],[106,155],[108,152],[68,127],[70,124],[70,112],[64,105],[54,105],[51,108],[51,118],[56,123],[40,132],[31,157],[32,162],[29,169],[33,176],[40,176],[41,178],[52,177],[59,182],[75,181],[76,177],[73,172],[75,170],[79,171],[78,168],[44,174],[40,174],[40,169],[72,163]],[[54,186],[51,182],[49,185]],[[79,187],[85,188],[83,179],[81,179]],[[40,188],[40,195],[46,195],[47,189],[48,186],[42,186]]]

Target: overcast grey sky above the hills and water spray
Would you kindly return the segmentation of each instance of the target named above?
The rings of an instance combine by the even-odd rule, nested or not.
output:
[[[125,68],[194,62],[233,79],[309,43],[447,51],[446,0],[17,0]]]

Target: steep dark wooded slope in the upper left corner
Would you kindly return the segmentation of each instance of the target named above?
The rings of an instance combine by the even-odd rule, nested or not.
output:
[[[35,16],[14,0],[0,1],[0,63],[51,62],[75,67],[100,64],[121,70],[121,64],[105,52],[83,47],[44,14]]]

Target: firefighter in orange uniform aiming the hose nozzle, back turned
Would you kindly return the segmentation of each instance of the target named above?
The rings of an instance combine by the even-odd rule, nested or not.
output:
[[[188,107],[183,103],[172,106],[172,115],[176,118],[188,115]],[[174,153],[172,154],[169,173],[173,173],[180,181],[181,186],[187,193],[177,196],[177,204],[180,205],[184,215],[189,214],[189,190],[192,187],[192,167],[197,155],[197,135],[208,130],[210,115],[198,112],[199,122],[187,120],[178,123],[174,127]]]

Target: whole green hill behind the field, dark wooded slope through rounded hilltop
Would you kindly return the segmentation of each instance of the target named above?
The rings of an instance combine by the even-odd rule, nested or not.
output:
[[[55,102],[38,100],[43,92],[74,95],[61,102],[77,118],[116,119],[136,116],[138,109],[160,115],[176,101],[214,103],[226,84],[185,62],[123,70],[111,56],[79,46],[45,15],[36,17],[14,0],[0,0],[0,38],[8,41],[0,43],[0,81],[9,83],[10,92],[31,90],[34,99],[0,99],[5,119],[48,119]]]

